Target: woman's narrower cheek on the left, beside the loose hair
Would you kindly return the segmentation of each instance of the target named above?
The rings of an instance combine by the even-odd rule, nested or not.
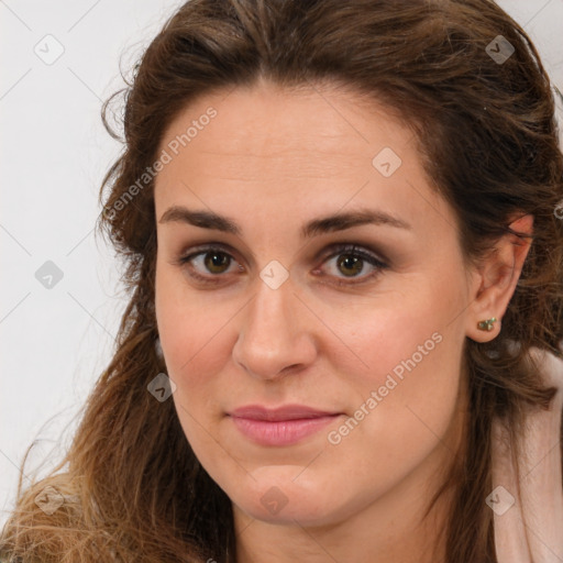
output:
[[[229,393],[224,374],[235,334],[231,322],[243,302],[228,294],[197,291],[166,265],[156,273],[156,317],[172,398],[184,433],[206,466],[229,464],[217,428]]]

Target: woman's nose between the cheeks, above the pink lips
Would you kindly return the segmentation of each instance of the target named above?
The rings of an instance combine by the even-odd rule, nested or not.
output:
[[[278,379],[309,366],[316,357],[313,323],[319,320],[297,295],[291,278],[276,289],[262,279],[241,312],[233,360],[249,375]]]

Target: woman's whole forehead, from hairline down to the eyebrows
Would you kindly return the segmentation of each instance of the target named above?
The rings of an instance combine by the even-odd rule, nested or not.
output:
[[[156,178],[158,217],[178,203],[295,217],[297,207],[376,202],[409,221],[444,206],[412,131],[350,91],[261,84],[202,96],[178,113],[159,151],[172,159]]]

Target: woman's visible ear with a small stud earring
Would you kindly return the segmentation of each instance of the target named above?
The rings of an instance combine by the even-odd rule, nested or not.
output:
[[[510,229],[526,238],[505,234],[473,271],[466,334],[476,342],[488,342],[500,332],[501,319],[515,292],[531,246],[533,217],[520,217],[510,223]],[[493,323],[492,330],[477,328],[479,321],[493,318],[497,320]]]

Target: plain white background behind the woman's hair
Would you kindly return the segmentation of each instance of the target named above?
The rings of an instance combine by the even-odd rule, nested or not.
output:
[[[181,3],[0,0],[0,525],[26,446],[38,439],[35,467],[66,427],[53,452],[62,454],[110,358],[125,302],[118,263],[92,230],[99,186],[121,145],[100,108],[124,86],[120,57],[126,74]],[[563,91],[563,0],[499,3]],[[45,51],[47,34],[64,47],[52,65],[34,52]],[[46,261],[63,272],[51,289],[35,278]]]

